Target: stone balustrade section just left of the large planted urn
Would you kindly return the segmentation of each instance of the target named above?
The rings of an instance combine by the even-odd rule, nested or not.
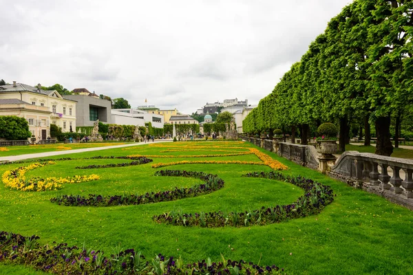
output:
[[[278,155],[314,170],[319,169],[319,160],[314,146],[279,142]]]

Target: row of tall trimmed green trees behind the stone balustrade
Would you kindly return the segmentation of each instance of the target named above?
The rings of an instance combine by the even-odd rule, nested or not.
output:
[[[368,142],[374,124],[376,153],[391,155],[391,118],[398,142],[403,115],[412,111],[412,10],[411,0],[355,0],[343,8],[247,115],[244,133],[299,129],[306,142],[310,124],[337,121],[345,151],[350,122],[357,120]]]

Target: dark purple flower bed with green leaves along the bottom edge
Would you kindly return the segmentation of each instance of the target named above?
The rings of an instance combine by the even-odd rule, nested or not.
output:
[[[222,262],[211,259],[185,264],[182,258],[158,254],[146,259],[134,249],[117,247],[114,254],[87,248],[68,246],[67,243],[41,245],[39,236],[21,236],[0,232],[0,262],[21,264],[53,274],[283,274],[276,265],[261,267],[245,261]]]

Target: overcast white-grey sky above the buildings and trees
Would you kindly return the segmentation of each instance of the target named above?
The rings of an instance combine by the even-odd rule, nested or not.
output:
[[[192,113],[271,93],[350,0],[0,0],[0,78]]]

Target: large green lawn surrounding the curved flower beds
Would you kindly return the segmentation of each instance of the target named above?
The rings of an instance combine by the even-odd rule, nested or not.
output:
[[[179,146],[171,148],[171,146]],[[232,148],[235,147],[235,148]],[[173,149],[173,152],[168,151]],[[65,157],[96,155],[208,155],[257,148],[242,142],[173,142],[109,149]],[[224,152],[218,152],[224,150]],[[225,157],[151,157],[153,163],[121,168],[78,170],[75,166],[129,162],[122,159],[83,159],[28,172],[27,177],[47,175],[100,176],[98,181],[67,184],[61,190],[21,192],[0,184],[0,230],[25,236],[37,234],[41,243],[52,241],[112,252],[120,244],[153,257],[158,253],[182,256],[187,263],[211,257],[253,261],[284,267],[288,274],[413,274],[413,212],[385,199],[321,175],[277,155],[264,151],[290,167],[287,175],[304,175],[329,185],[337,197],[320,214],[283,223],[246,228],[184,228],[154,223],[152,217],[170,210],[210,212],[242,211],[262,206],[292,203],[304,190],[286,182],[245,178],[251,171],[271,171],[267,166],[244,164],[185,164],[151,168],[153,163],[180,160],[245,160],[258,162],[255,155]],[[198,151],[198,153],[197,153]],[[4,153],[4,152],[2,152]],[[54,157],[59,158],[59,157]],[[0,166],[5,170],[22,164]],[[28,165],[28,164],[23,164]],[[200,197],[139,206],[105,208],[67,207],[50,203],[56,195],[122,195],[175,186],[193,186],[199,179],[155,177],[156,170],[180,169],[218,174],[224,188]],[[261,260],[260,260],[261,259]],[[30,273],[31,272],[31,273]],[[0,265],[0,274],[41,274],[25,267]]]

